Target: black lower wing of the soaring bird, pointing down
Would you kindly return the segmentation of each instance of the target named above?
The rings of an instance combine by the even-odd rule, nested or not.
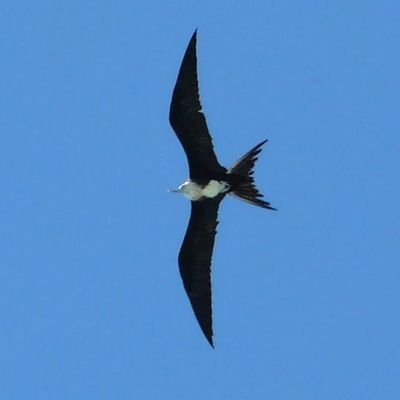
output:
[[[192,201],[189,226],[179,252],[179,270],[197,321],[213,346],[211,259],[224,195]]]

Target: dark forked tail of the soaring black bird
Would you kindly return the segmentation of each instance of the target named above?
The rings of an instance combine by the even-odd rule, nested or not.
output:
[[[258,160],[258,155],[261,153],[263,144],[266,142],[267,140],[264,140],[253,147],[228,170],[229,174],[239,177],[238,184],[233,186],[230,194],[248,203],[254,204],[255,206],[276,210],[276,208],[271,207],[268,201],[262,199],[264,196],[256,188],[253,177],[254,165]]]

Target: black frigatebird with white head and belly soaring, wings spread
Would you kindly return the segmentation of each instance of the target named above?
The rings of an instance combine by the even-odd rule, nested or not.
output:
[[[170,191],[182,193],[191,201],[178,265],[194,315],[214,348],[211,262],[221,201],[232,195],[264,209],[276,209],[263,199],[253,177],[254,165],[267,140],[250,149],[231,168],[219,163],[200,102],[197,69],[196,29],[184,53],[169,110],[170,125],[186,153],[189,179]]]

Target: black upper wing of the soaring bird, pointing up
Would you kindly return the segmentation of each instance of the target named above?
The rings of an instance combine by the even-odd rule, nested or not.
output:
[[[185,150],[190,177],[202,178],[207,171],[225,172],[215,155],[206,118],[201,110],[197,77],[197,31],[183,56],[172,94],[169,121]]]

